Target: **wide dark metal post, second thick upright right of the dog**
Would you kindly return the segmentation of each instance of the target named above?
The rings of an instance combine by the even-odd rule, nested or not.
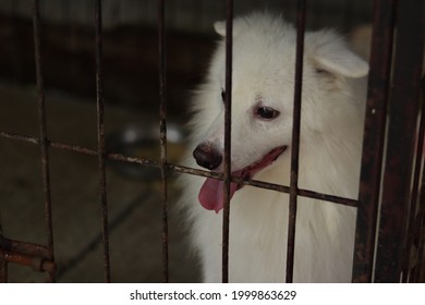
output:
[[[425,1],[399,1],[376,282],[401,280],[420,103],[424,17]]]

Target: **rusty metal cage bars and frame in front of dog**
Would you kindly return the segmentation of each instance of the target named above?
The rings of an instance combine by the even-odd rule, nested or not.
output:
[[[170,172],[211,176],[224,181],[222,281],[228,282],[230,182],[283,192],[290,196],[287,258],[287,282],[292,282],[295,243],[295,216],[299,196],[323,199],[357,208],[354,245],[353,282],[418,282],[425,280],[425,179],[424,179],[424,62],[425,1],[374,1],[371,72],[365,113],[363,157],[359,198],[350,199],[302,190],[298,186],[301,88],[306,0],[298,1],[298,39],[293,113],[293,143],[290,185],[262,181],[240,181],[230,173],[232,35],[226,37],[226,136],[223,174],[186,168],[168,161],[167,154],[167,75],[166,75],[166,1],[158,0],[158,71],[160,113],[160,161],[132,158],[108,152],[105,147],[102,19],[101,0],[95,1],[95,61],[97,89],[96,150],[49,139],[46,129],[45,84],[40,50],[39,1],[34,0],[33,27],[38,88],[40,133],[38,137],[0,131],[11,141],[27,142],[41,150],[45,221],[47,242],[44,245],[10,240],[0,230],[0,282],[8,281],[8,264],[31,266],[47,272],[56,281],[56,258],[51,213],[49,151],[64,149],[98,159],[105,281],[111,281],[108,233],[106,161],[120,160],[161,171],[162,181],[162,273],[169,282],[168,194]],[[227,32],[232,32],[233,1],[227,1]],[[397,35],[396,35],[397,34]],[[0,228],[1,229],[1,228]]]

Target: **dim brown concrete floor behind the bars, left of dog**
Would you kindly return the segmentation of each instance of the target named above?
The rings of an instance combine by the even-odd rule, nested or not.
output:
[[[48,136],[96,147],[94,102],[48,93]],[[0,130],[38,137],[34,87],[0,84]],[[143,122],[146,114],[106,109],[107,134]],[[0,137],[0,223],[3,235],[46,244],[39,147]],[[54,255],[58,282],[102,282],[97,159],[50,149]],[[171,179],[173,180],[173,179]],[[197,282],[198,267],[173,213],[178,191],[170,181],[170,281]],[[134,179],[108,167],[111,278],[113,282],[161,282],[161,195],[156,179]],[[10,282],[44,282],[46,274],[9,264]]]

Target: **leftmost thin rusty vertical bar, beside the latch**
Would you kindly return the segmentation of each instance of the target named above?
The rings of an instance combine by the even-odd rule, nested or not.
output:
[[[39,118],[39,127],[40,127],[39,143],[41,148],[41,171],[42,171],[42,187],[44,187],[44,196],[45,196],[45,222],[47,229],[47,248],[48,248],[48,258],[50,260],[54,260],[51,192],[50,192],[49,141],[47,138],[46,95],[45,95],[45,81],[42,76],[41,42],[40,42],[40,8],[39,8],[38,0],[34,0],[33,27],[34,27],[36,78],[37,78],[37,90],[38,90],[38,118]],[[54,271],[49,272],[49,280],[52,282],[56,281]]]

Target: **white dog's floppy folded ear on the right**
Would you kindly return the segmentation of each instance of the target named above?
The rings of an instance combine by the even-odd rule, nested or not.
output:
[[[345,77],[363,77],[368,63],[350,50],[348,44],[332,30],[319,30],[308,37],[313,60],[318,70]]]

